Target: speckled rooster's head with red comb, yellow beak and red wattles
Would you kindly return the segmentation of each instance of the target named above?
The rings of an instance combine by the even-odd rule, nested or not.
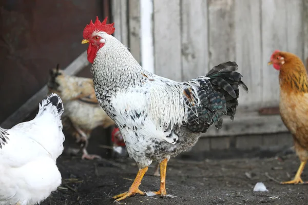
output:
[[[84,39],[82,40],[81,43],[89,44],[87,54],[88,54],[88,61],[90,63],[93,63],[98,50],[105,45],[105,39],[102,38],[101,34],[107,33],[111,35],[115,30],[115,28],[113,27],[114,23],[112,24],[106,24],[106,23],[107,23],[107,17],[101,23],[99,17],[97,16],[94,24],[91,20],[90,24],[88,24],[83,31]]]

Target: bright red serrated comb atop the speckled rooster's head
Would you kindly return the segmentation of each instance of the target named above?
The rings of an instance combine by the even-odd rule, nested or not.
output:
[[[85,39],[88,39],[91,37],[93,31],[104,31],[107,34],[111,35],[115,28],[113,27],[114,23],[112,24],[106,24],[107,23],[107,17],[103,20],[103,22],[101,23],[99,20],[99,17],[97,16],[97,19],[95,20],[94,24],[91,20],[90,24],[88,24],[86,26],[86,28],[84,29],[83,32],[83,37]]]

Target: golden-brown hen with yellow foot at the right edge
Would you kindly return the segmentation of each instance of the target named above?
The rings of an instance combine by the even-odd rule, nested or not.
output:
[[[279,71],[280,103],[282,121],[291,132],[300,166],[293,180],[282,184],[303,183],[301,173],[308,160],[308,79],[301,59],[288,52],[274,51],[268,65]]]

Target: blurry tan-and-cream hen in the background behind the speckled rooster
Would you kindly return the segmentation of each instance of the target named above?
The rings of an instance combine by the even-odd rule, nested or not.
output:
[[[75,132],[76,141],[82,144],[82,159],[101,158],[98,155],[88,154],[88,140],[91,131],[98,127],[108,128],[114,121],[100,107],[95,97],[93,80],[85,77],[66,75],[63,70],[56,68],[50,70],[47,83],[49,92],[57,93],[63,100],[67,117]]]

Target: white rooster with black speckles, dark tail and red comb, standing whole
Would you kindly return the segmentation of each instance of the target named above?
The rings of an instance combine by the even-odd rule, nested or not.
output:
[[[138,64],[128,49],[111,34],[113,24],[90,22],[83,31],[95,94],[105,112],[115,121],[126,149],[139,167],[128,192],[114,196],[119,202],[139,190],[153,160],[160,163],[157,192],[166,196],[166,167],[170,157],[188,151],[212,124],[222,127],[224,115],[234,118],[239,86],[247,91],[236,72],[235,62],[220,64],[206,76],[183,83],[152,74]]]

